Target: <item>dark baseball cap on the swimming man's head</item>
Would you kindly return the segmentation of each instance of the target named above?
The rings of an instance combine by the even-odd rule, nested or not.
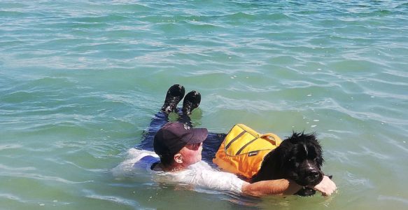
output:
[[[207,137],[206,128],[192,128],[183,123],[166,123],[155,134],[153,148],[162,156],[176,155],[187,144],[198,144]]]

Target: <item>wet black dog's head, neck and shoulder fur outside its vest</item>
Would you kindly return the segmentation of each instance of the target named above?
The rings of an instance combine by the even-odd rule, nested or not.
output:
[[[291,137],[265,156],[260,171],[251,182],[290,179],[304,186],[297,195],[311,196],[316,191],[307,186],[316,186],[322,181],[323,162],[323,151],[316,134],[293,132]]]

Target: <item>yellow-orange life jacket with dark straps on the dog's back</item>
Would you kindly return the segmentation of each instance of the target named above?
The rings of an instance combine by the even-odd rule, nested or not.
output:
[[[259,134],[244,124],[232,127],[213,163],[225,172],[251,179],[258,173],[265,155],[281,144],[276,134]]]

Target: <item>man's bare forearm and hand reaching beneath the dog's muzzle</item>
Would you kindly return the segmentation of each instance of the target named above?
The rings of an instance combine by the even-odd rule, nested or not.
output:
[[[255,183],[244,183],[242,186],[242,193],[244,195],[251,195],[255,197],[261,197],[265,195],[293,195],[297,193],[302,186],[290,181],[288,179],[276,179],[267,181],[258,181]],[[324,176],[321,183],[313,186],[314,190],[322,193],[322,195],[331,195],[336,190],[336,184]]]

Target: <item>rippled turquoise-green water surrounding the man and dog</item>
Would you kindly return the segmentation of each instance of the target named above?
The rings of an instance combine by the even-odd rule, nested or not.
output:
[[[0,209],[407,209],[407,34],[408,1],[0,1]],[[213,132],[317,132],[339,190],[114,175],[174,83]]]

